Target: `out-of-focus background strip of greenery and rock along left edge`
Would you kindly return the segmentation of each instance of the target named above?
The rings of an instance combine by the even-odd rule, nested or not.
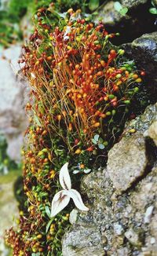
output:
[[[0,1],[0,255],[2,256],[12,255],[9,248],[5,247],[3,236],[5,229],[16,225],[22,191],[20,151],[24,130],[27,127],[24,105],[28,93],[17,61],[20,58],[21,46],[31,33],[29,24],[35,8],[35,1]]]

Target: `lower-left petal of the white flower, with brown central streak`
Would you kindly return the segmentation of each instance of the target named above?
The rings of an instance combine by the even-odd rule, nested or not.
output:
[[[57,192],[57,194],[53,197],[52,206],[51,206],[51,217],[57,215],[60,210],[63,210],[64,207],[68,205],[70,201],[70,196],[67,195],[64,190]]]

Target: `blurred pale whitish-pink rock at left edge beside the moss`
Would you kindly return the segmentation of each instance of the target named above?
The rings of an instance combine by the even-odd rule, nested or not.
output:
[[[0,60],[0,133],[5,135],[9,144],[9,156],[14,160],[20,160],[22,137],[27,126],[24,111],[27,92],[24,79],[18,75],[20,67],[17,60],[20,57],[20,49],[21,46],[11,46],[0,53],[3,57]]]

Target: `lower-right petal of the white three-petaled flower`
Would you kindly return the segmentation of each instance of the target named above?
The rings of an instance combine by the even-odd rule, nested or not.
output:
[[[84,205],[82,197],[78,191],[75,189],[70,189],[67,194],[71,197],[71,199],[73,199],[75,206],[78,207],[79,210],[89,210],[89,208]]]

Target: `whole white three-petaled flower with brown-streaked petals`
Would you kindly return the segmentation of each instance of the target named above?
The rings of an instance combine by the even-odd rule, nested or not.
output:
[[[64,166],[60,169],[60,185],[64,190],[57,192],[53,197],[52,207],[51,207],[51,217],[57,215],[60,210],[63,210],[70,201],[73,199],[75,206],[79,210],[89,210],[84,203],[82,202],[82,197],[78,191],[71,188],[71,177],[68,173],[68,163],[65,163]]]

